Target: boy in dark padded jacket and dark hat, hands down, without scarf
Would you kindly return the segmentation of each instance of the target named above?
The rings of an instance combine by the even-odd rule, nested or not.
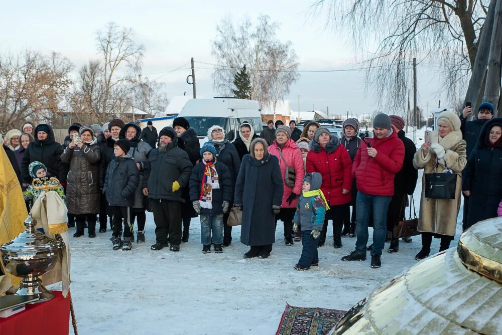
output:
[[[119,139],[113,145],[115,159],[110,161],[104,178],[103,194],[110,205],[113,219],[111,243],[113,250],[131,250],[133,247],[133,224],[131,207],[134,205],[134,194],[140,183],[140,172],[134,158],[127,154],[131,144],[127,139]],[[123,221],[123,242],[120,240]]]

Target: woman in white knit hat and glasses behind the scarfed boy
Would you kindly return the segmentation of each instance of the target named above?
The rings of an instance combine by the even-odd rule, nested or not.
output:
[[[225,139],[225,131],[219,125],[213,125],[207,130],[207,138],[213,141],[216,148],[216,160],[226,165],[232,177],[232,193],[235,190],[235,180],[239,173],[240,158],[235,146]],[[232,204],[230,204],[232,206]],[[223,247],[232,243],[232,227],[228,226],[228,213],[223,216]]]

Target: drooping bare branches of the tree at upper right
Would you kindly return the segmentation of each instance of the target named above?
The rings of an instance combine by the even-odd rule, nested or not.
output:
[[[376,50],[363,61],[367,88],[379,103],[396,107],[405,105],[414,57],[437,69],[444,91],[455,80],[457,86],[466,83],[486,16],[481,0],[318,0],[312,13],[321,11],[351,34],[356,50],[368,50],[376,41]]]

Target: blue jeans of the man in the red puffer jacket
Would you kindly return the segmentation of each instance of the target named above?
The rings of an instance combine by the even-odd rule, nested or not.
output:
[[[373,247],[371,255],[382,255],[385,237],[387,235],[387,210],[391,202],[390,196],[373,196],[370,194],[357,192],[355,234],[355,251],[359,254],[366,254],[366,244],[368,243],[368,223],[369,215],[373,213]]]

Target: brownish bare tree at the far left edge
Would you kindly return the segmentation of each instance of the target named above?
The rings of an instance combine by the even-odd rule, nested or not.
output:
[[[0,56],[0,130],[19,128],[27,120],[61,121],[71,69],[68,59],[57,53]]]

